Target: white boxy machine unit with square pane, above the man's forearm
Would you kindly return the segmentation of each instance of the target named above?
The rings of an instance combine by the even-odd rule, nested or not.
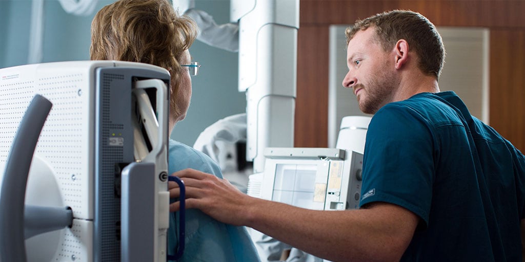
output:
[[[334,148],[267,148],[260,198],[313,210],[359,208],[363,155]]]

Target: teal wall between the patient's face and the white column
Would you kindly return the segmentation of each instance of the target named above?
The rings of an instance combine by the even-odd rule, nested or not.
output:
[[[205,10],[219,25],[229,21],[229,0],[196,0],[195,8]],[[237,91],[238,53],[199,41],[195,41],[190,53],[202,67],[192,79],[190,110],[186,119],[175,125],[172,138],[193,146],[207,126],[226,116],[246,112],[246,95]]]

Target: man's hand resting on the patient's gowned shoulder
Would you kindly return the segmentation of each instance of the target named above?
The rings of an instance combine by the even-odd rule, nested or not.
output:
[[[200,209],[214,219],[232,225],[246,225],[249,218],[247,208],[256,201],[240,192],[226,179],[194,169],[184,169],[172,174],[180,178],[186,187],[186,208]],[[178,198],[177,183],[168,184],[170,198]],[[180,202],[170,204],[170,212],[180,209]]]

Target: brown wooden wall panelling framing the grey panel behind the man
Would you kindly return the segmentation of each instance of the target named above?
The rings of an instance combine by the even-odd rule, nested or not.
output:
[[[296,147],[326,147],[328,108],[328,30],[331,24],[392,9],[409,9],[436,26],[490,29],[491,125],[519,149],[525,149],[525,1],[351,1],[301,0],[298,34]],[[312,66],[312,64],[316,64]],[[324,70],[324,71],[323,71]],[[521,70],[521,71],[520,71]],[[498,91],[505,85],[505,91]],[[315,104],[312,104],[312,103]],[[312,123],[313,122],[313,123]]]

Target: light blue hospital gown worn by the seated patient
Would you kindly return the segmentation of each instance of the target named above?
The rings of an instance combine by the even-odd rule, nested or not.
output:
[[[189,146],[170,139],[168,171],[193,168],[222,178],[220,168],[211,158]],[[197,209],[186,210],[186,236],[182,262],[251,262],[260,261],[245,227],[218,222]],[[168,250],[176,252],[178,215],[170,214]]]

